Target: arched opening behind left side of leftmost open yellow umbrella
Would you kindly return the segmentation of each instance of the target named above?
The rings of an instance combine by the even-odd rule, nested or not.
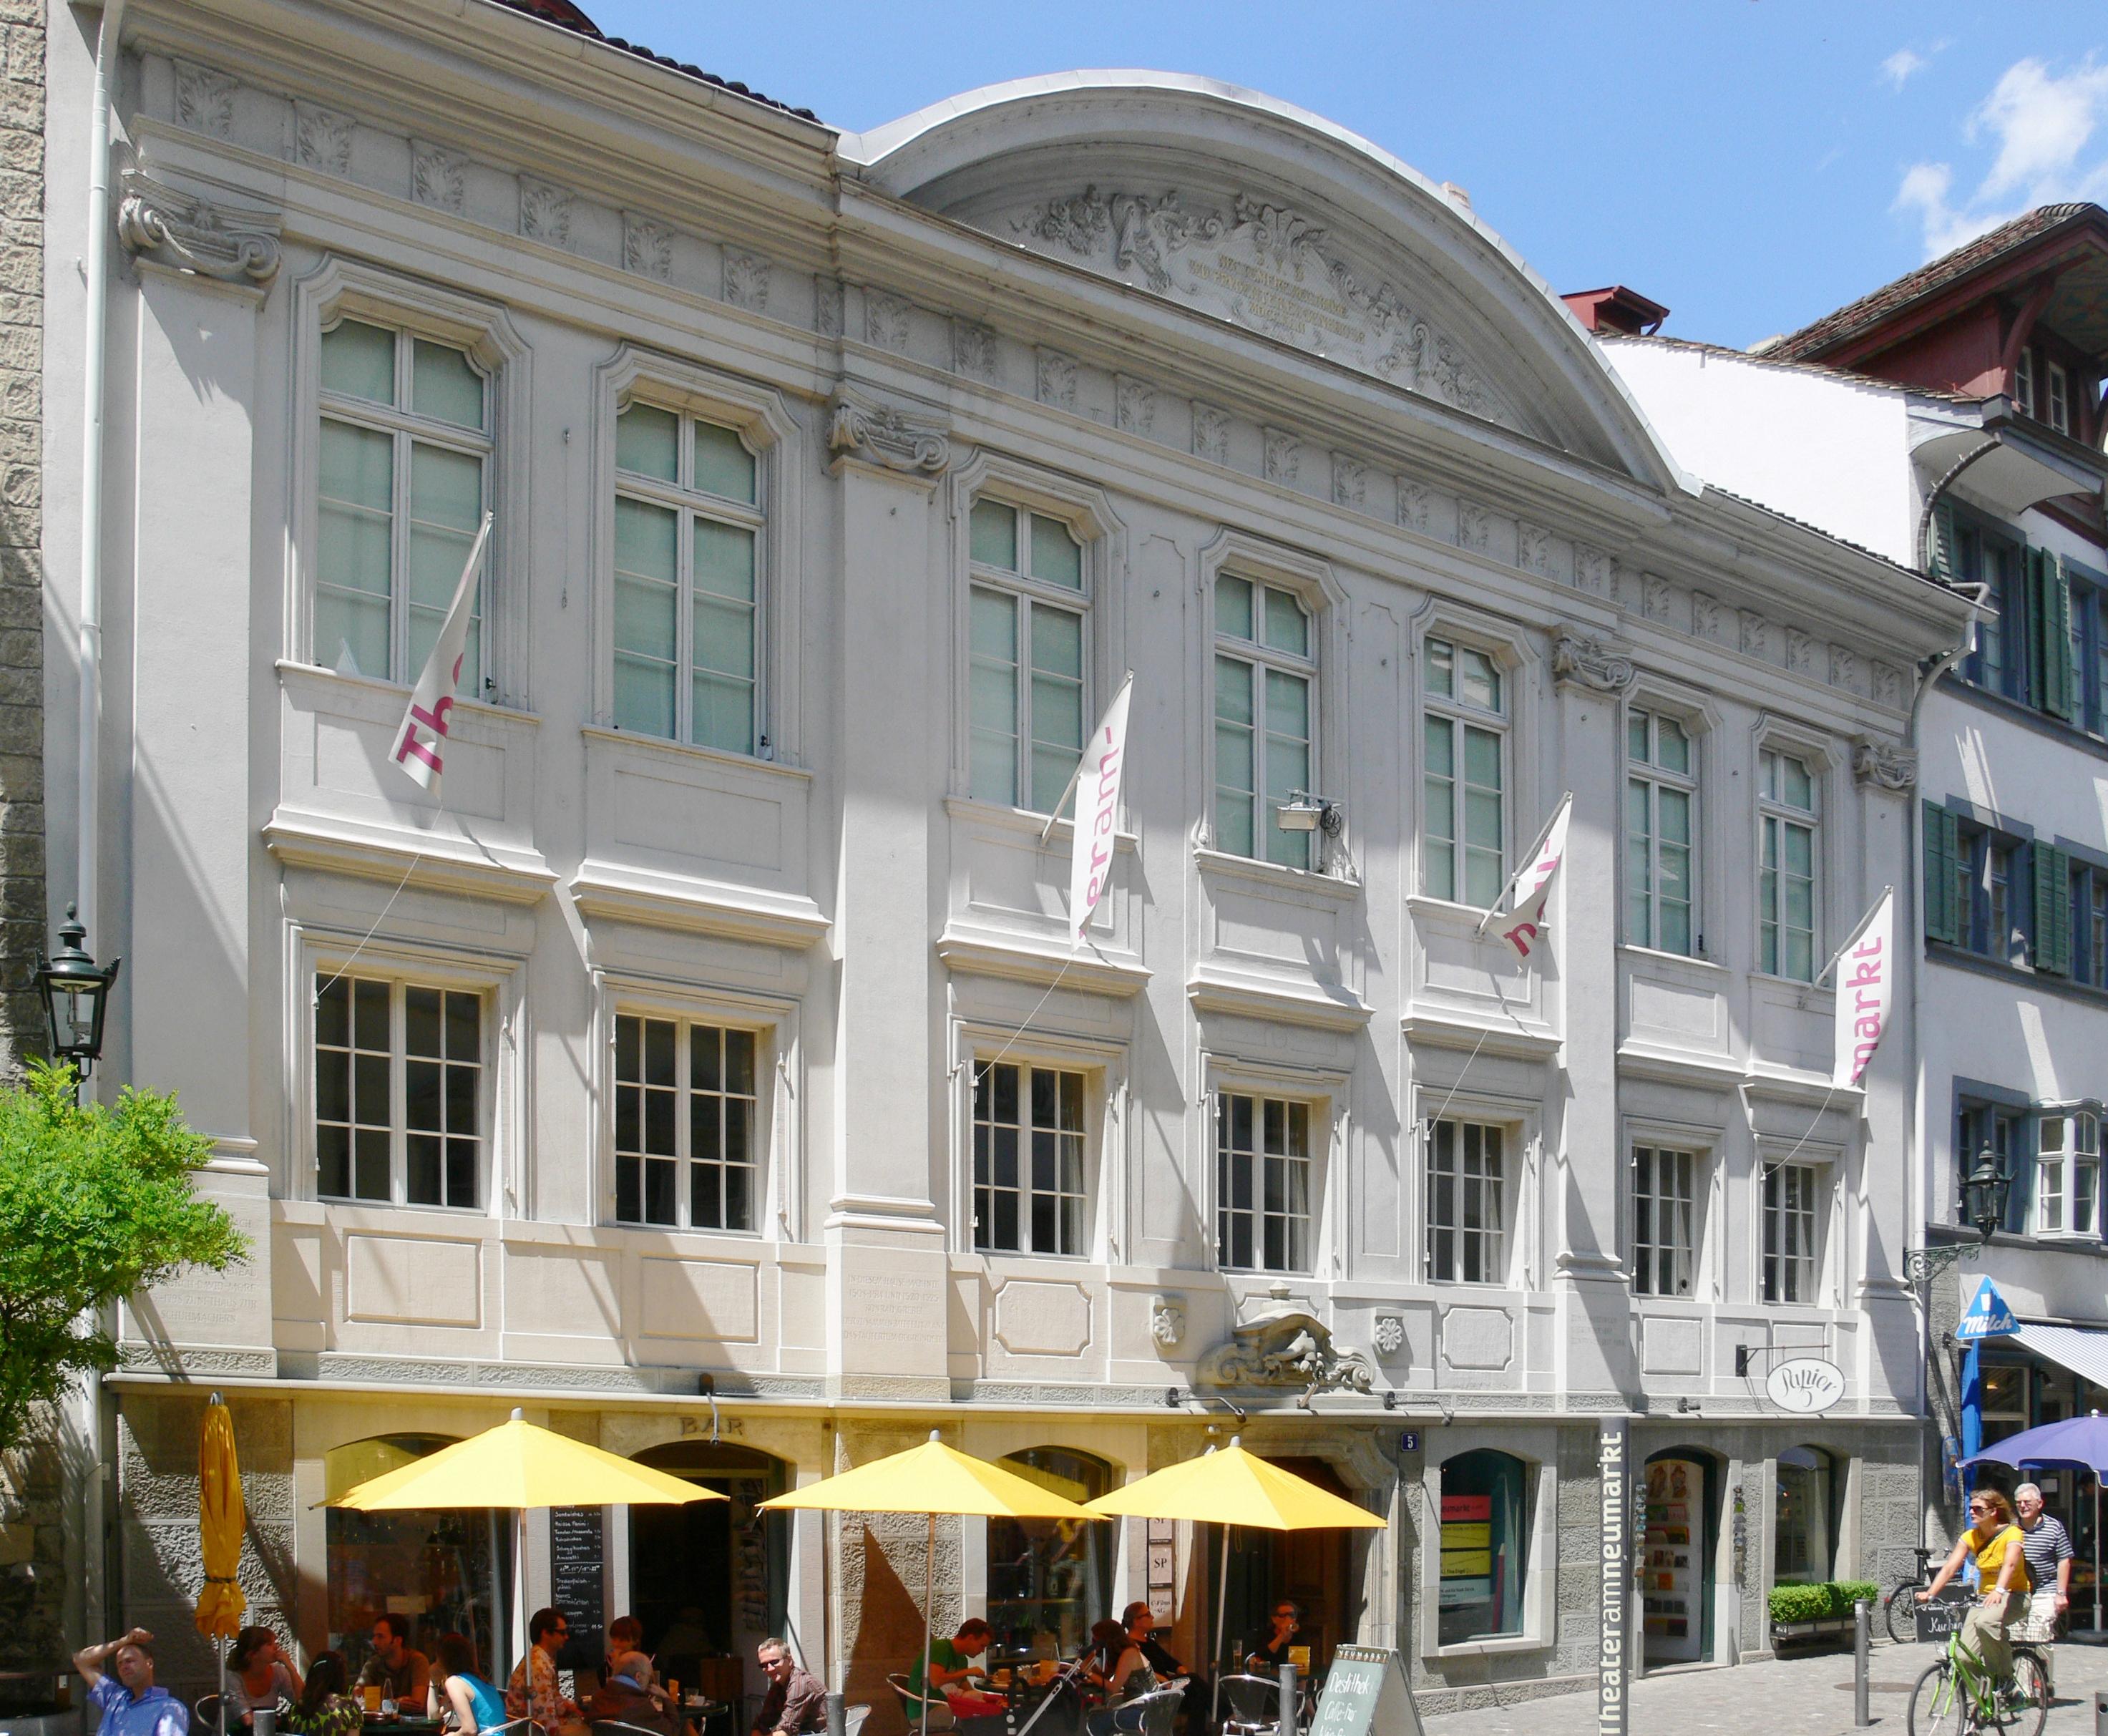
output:
[[[335,1500],[386,1470],[441,1447],[451,1434],[375,1434],[323,1455],[323,1498]],[[500,1669],[512,1588],[512,1515],[497,1508],[348,1512],[327,1508],[329,1643],[356,1673],[373,1652],[373,1618],[409,1626],[430,1656],[443,1633],[462,1633],[487,1671]]]

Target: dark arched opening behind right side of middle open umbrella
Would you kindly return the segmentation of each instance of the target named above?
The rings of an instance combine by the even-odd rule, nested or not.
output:
[[[1113,1466],[1069,1447],[1027,1447],[997,1460],[1073,1502],[1113,1487]],[[1113,1609],[1113,1542],[1119,1525],[1073,1519],[989,1521],[989,1626],[1014,1652],[1073,1658],[1090,1624]]]

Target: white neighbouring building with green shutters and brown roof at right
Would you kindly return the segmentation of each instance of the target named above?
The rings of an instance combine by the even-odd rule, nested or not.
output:
[[[1963,1523],[1952,1466],[1977,1439],[2108,1407],[2104,295],[2108,213],[2053,205],[1752,354],[1608,340],[1707,481],[1986,586],[1925,696],[1916,757],[1885,772],[1899,791],[1914,774],[1922,810],[1912,1217],[1927,1242],[1975,1242],[1960,1183],[1984,1152],[2011,1175],[2003,1232],[1931,1278],[1933,1538]],[[1965,1384],[1952,1331],[1984,1274],[2022,1329]],[[2078,1540],[2091,1614],[2091,1479],[2041,1483]]]

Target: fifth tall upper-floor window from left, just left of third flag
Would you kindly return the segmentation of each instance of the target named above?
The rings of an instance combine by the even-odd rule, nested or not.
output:
[[[1505,880],[1507,679],[1486,652],[1427,641],[1421,742],[1421,890],[1490,909]]]

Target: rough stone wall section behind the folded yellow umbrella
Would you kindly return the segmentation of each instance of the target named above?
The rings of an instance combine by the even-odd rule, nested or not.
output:
[[[247,1534],[238,1578],[242,1622],[293,1641],[293,1403],[234,1399]],[[207,1692],[215,1662],[194,1612],[204,1588],[198,1540],[198,1439],[204,1394],[124,1396],[118,1411],[122,1620],[156,1637],[158,1679],[183,1698]]]

